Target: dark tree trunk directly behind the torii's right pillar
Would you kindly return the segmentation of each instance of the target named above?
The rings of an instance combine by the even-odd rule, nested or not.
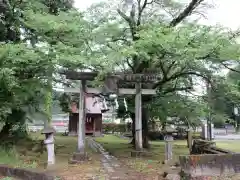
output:
[[[149,112],[147,108],[142,107],[142,138],[143,138],[143,148],[150,148],[148,141],[148,121]]]

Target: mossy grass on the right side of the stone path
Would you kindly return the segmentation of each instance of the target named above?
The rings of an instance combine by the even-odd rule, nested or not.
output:
[[[165,156],[164,141],[150,141],[150,155],[141,158],[132,158],[130,156],[133,147],[129,144],[130,141],[128,139],[119,138],[115,135],[104,135],[104,137],[97,137],[96,141],[102,144],[109,153],[138,171],[160,173],[168,168],[162,164]],[[189,154],[186,140],[176,140],[173,143],[173,161],[178,161],[179,155]],[[217,146],[240,152],[240,141],[217,141]]]

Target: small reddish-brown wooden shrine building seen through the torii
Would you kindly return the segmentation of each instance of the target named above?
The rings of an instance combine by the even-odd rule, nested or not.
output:
[[[86,135],[101,136],[102,134],[102,111],[103,105],[98,101],[98,98],[91,94],[85,95],[86,102]],[[75,136],[78,134],[78,104],[71,103],[71,113],[69,114],[69,135]]]

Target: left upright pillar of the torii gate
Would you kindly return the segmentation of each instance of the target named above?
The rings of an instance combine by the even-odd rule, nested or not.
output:
[[[85,152],[85,82],[80,81],[79,110],[78,110],[78,152]]]

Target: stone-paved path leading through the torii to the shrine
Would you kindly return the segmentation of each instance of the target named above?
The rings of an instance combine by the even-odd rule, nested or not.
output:
[[[88,145],[96,152],[101,154],[101,163],[103,169],[105,170],[106,179],[108,180],[136,180],[136,179],[145,179],[152,180],[154,178],[144,176],[142,173],[138,173],[129,167],[125,167],[121,164],[118,159],[114,156],[111,156],[104,148],[97,143],[94,139],[88,138]],[[155,178],[156,179],[156,178]],[[161,179],[159,179],[161,180]]]

